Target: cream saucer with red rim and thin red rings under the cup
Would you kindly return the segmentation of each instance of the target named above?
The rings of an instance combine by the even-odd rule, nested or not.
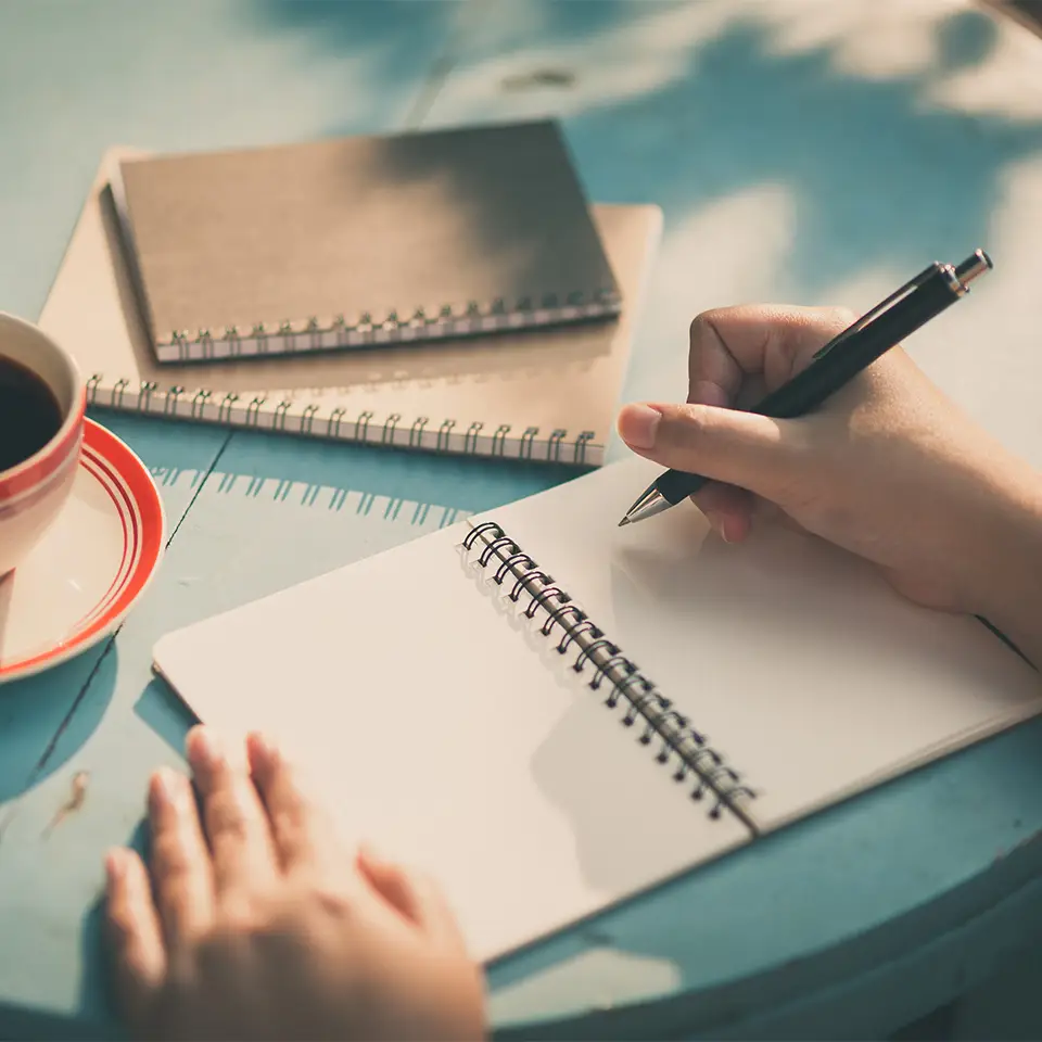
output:
[[[111,634],[151,582],[165,542],[163,503],[148,468],[87,420],[61,514],[0,580],[0,684],[58,665]]]

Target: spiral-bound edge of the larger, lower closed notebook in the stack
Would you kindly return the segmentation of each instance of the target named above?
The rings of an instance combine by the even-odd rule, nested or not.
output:
[[[514,432],[509,423],[486,428],[480,420],[463,424],[453,418],[437,423],[425,416],[408,422],[398,412],[380,419],[368,409],[352,417],[344,408],[328,409],[301,399],[220,394],[178,384],[161,387],[152,380],[135,385],[124,378],[110,386],[100,372],[92,373],[87,381],[87,404],[102,409],[466,456],[596,467],[603,462],[605,453],[605,446],[595,441],[594,431],[570,435],[567,430],[555,429],[543,434],[537,427],[529,427]]]

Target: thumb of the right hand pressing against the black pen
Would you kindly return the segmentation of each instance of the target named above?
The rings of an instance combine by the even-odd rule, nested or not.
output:
[[[805,462],[791,420],[711,405],[626,405],[619,434],[663,467],[748,488],[765,499],[791,487]]]

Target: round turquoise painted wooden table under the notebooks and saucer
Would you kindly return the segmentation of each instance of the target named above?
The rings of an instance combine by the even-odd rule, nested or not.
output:
[[[110,144],[554,113],[592,198],[665,212],[627,397],[684,393],[686,325],[704,307],[867,305],[925,260],[984,244],[1002,279],[923,340],[923,360],[1042,465],[1027,361],[1039,59],[1021,27],[946,0],[0,0],[0,308],[39,313]],[[1024,372],[994,389],[971,364],[989,338],[1024,346]],[[181,763],[189,724],[151,676],[156,637],[419,535],[445,511],[570,476],[98,418],[155,473],[170,545],[112,643],[0,690],[5,1037],[112,1031],[102,854],[139,833],[145,779]],[[431,509],[383,523],[308,505],[293,482]],[[86,799],[56,821],[78,774]],[[1039,936],[1040,836],[1032,723],[493,967],[494,1020],[570,1038],[885,1035]]]

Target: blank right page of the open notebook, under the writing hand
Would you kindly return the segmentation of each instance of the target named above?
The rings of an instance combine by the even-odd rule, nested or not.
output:
[[[976,619],[919,608],[867,563],[774,523],[729,546],[694,507],[619,517],[645,460],[490,517],[679,703],[776,828],[1042,709],[1042,679]]]

